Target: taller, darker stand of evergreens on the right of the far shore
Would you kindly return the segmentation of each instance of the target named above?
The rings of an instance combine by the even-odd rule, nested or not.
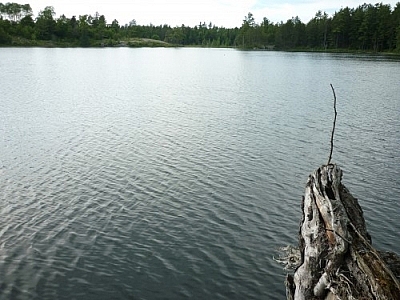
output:
[[[318,11],[307,24],[298,17],[273,24],[267,18],[256,24],[251,13],[239,36],[243,47],[276,45],[283,49],[348,49],[400,52],[400,2],[392,10],[382,3],[345,7],[329,17]]]

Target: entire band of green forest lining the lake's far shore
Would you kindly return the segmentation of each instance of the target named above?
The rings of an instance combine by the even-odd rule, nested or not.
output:
[[[346,50],[400,53],[400,2],[341,8],[332,16],[318,11],[308,23],[298,17],[256,23],[252,13],[240,28],[200,23],[194,27],[121,25],[104,15],[55,18],[45,7],[35,18],[29,4],[0,3],[0,45],[7,46],[168,46],[237,47],[280,50]],[[140,44],[138,41],[145,41]]]

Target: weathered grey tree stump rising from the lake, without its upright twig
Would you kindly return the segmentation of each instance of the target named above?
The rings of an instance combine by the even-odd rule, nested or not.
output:
[[[371,246],[361,207],[341,178],[334,164],[308,178],[299,266],[287,276],[287,299],[400,299],[399,273]],[[400,261],[394,254],[386,256]]]

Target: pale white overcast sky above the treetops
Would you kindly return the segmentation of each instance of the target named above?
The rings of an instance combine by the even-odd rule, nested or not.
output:
[[[383,1],[392,8],[399,0]],[[219,27],[240,27],[244,16],[253,13],[257,23],[263,17],[277,23],[286,22],[298,16],[307,23],[318,10],[332,15],[342,7],[356,8],[364,2],[379,2],[365,0],[26,0],[33,9],[35,16],[46,6],[53,6],[56,17],[64,14],[67,18],[99,12],[108,23],[117,19],[120,25],[135,19],[139,25],[195,26],[200,22],[212,22]],[[21,2],[22,3],[22,2]]]

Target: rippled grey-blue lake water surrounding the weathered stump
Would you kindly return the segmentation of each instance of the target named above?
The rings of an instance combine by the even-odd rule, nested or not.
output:
[[[0,299],[282,299],[333,160],[400,253],[400,62],[216,49],[0,49]]]

